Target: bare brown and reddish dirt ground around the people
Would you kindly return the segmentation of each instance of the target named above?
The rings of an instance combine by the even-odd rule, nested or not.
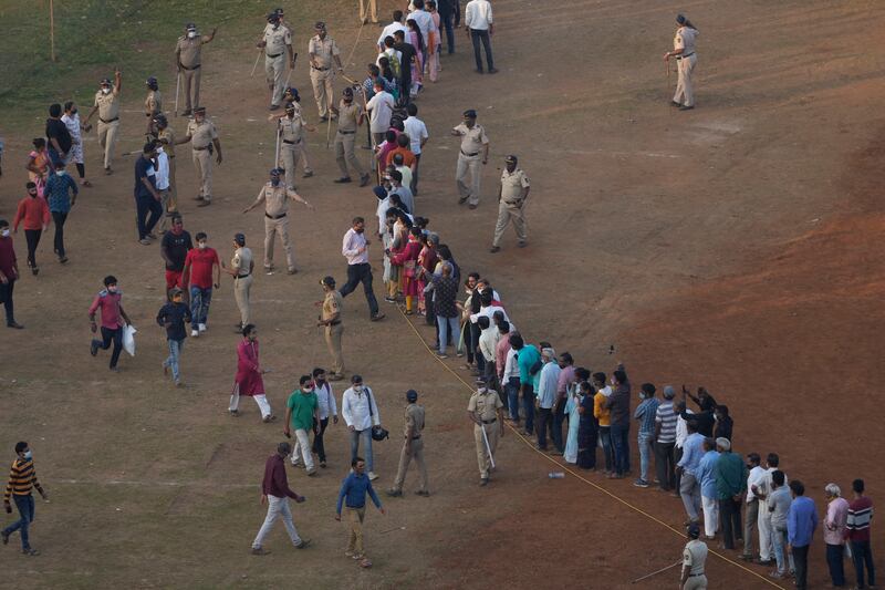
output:
[[[885,10],[860,2],[596,0],[570,4],[563,21],[561,11],[545,8],[494,2],[496,76],[472,72],[462,32],[458,52],[444,55],[439,83],[428,84],[418,103],[431,135],[418,214],[430,218],[465,271],[491,278],[529,341],[550,340],[593,370],[623,361],[637,383],[704,384],[731,408],[736,449],[778,452],[819,508],[827,482],[847,490],[858,476],[876,500],[885,480],[876,457],[885,444],[868,397],[885,377],[877,239],[885,229],[885,83],[876,35]],[[675,74],[667,79],[660,60],[677,10],[701,30],[698,108],[688,113],[667,106]],[[306,31],[302,25],[296,38]],[[335,24],[332,34],[350,52],[353,24]],[[348,65],[361,79],[376,34],[363,32]],[[247,234],[257,256],[263,252],[261,214],[240,214],[273,148],[266,94],[248,77],[253,55],[226,55],[223,77],[209,61],[221,56],[207,58],[205,103],[225,148],[212,207],[197,209],[187,198],[192,167],[179,159],[185,226],[207,231],[228,258],[236,231]],[[304,62],[293,79],[315,121]],[[129,87],[119,152],[140,147],[143,96]],[[492,145],[473,211],[456,205],[458,144],[447,137],[468,107],[480,113]],[[171,124],[185,126],[181,118]],[[317,279],[330,272],[343,279],[341,236],[352,216],[371,218],[375,208],[371,190],[331,183],[337,168],[324,134],[322,127],[309,142],[316,176],[299,184],[316,211],[294,207],[292,216],[301,272],[258,275],[252,289],[278,414],[298,376],[329,362],[313,328]],[[28,138],[7,137],[4,217],[22,194]],[[94,173],[97,143],[94,135],[86,141]],[[516,249],[510,235],[491,255],[494,180],[509,153],[532,179],[530,247]],[[163,266],[156,246],[135,239],[131,166],[117,157],[114,176],[92,175],[95,187],[81,194],[67,222],[67,266],[52,260],[51,237],[44,238],[39,278],[22,277],[15,290],[27,329],[0,340],[0,448],[30,441],[52,494],[52,504],[38,505],[32,529],[43,556],[28,560],[13,545],[0,551],[17,586],[622,588],[678,558],[684,540],[649,518],[681,522],[677,499],[586,476],[644,515],[575,477],[549,479],[555,466],[513,433],[502,441],[492,485],[479,488],[464,414],[469,392],[393,307],[382,302],[388,319],[369,323],[360,292],[346,300],[348,373],[374,387],[394,434],[404,392],[421,392],[433,495],[413,496],[410,474],[404,499],[385,498],[387,517],[368,510],[375,566],[360,570],[344,558],[345,529],[333,520],[347,463],[340,424],[326,435],[329,469],[311,479],[290,470],[291,486],[308,497],[293,508],[295,522],[315,546],[290,549],[280,527],[268,542],[271,556],[249,556],[263,519],[263,460],[282,439],[281,425],[261,424],[249,400],[242,417],[227,416],[238,341],[230,281],[214,296],[210,331],[186,344],[188,387],[164,380],[165,340],[154,324]],[[15,245],[23,262],[22,236]],[[378,251],[373,261],[377,279]],[[106,355],[87,354],[86,308],[107,273],[119,278],[140,331],[137,355],[122,360],[119,374],[106,371]],[[418,330],[429,341],[433,332]],[[467,376],[456,359],[446,363]],[[343,389],[335,387],[339,398]],[[378,489],[392,483],[398,448],[396,437],[375,447]],[[874,528],[876,546],[881,530]],[[814,587],[829,581],[823,553],[819,535]],[[715,557],[708,575],[711,588],[771,586]],[[676,581],[674,571],[635,587]]]

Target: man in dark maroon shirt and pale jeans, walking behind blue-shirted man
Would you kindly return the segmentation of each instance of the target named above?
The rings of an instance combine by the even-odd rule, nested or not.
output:
[[[252,541],[252,555],[266,556],[270,549],[264,549],[264,539],[270,535],[273,524],[282,517],[285,531],[295,549],[304,549],[310,544],[310,539],[302,539],[298,535],[295,524],[292,521],[292,510],[289,508],[289,498],[302,504],[306,498],[299,496],[289,487],[289,479],[285,475],[285,457],[292,452],[292,445],[280,443],[277,445],[277,453],[268,457],[264,464],[264,479],[261,482],[261,505],[268,505],[268,516],[264,524],[258,531],[256,540]]]

